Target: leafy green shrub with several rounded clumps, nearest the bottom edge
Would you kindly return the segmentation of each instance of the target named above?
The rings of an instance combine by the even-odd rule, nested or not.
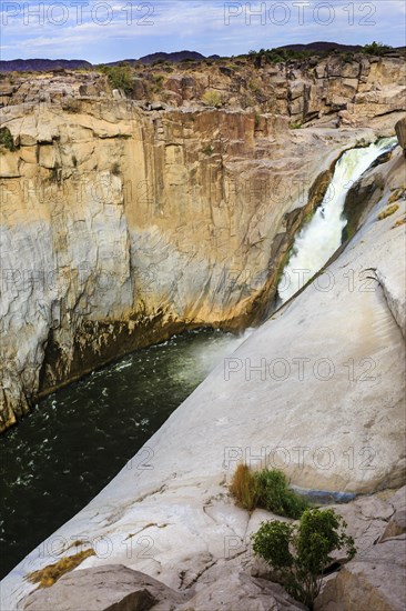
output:
[[[334,550],[355,555],[354,539],[345,533],[346,522],[332,509],[307,509],[298,527],[284,522],[262,522],[252,535],[253,550],[281,578],[286,591],[313,609],[319,593],[325,569]]]

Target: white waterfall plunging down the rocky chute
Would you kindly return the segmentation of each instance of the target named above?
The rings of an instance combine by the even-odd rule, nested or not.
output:
[[[396,142],[396,138],[384,138],[369,147],[351,149],[339,158],[322,204],[294,241],[277,287],[280,306],[308,282],[341,246],[347,224],[343,211],[348,189]]]

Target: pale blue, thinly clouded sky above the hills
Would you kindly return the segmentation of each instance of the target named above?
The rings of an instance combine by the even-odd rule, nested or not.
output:
[[[233,56],[318,40],[406,44],[406,0],[0,1],[1,59]]]

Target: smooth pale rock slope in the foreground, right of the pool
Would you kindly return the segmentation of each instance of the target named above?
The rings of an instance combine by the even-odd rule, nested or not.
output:
[[[322,491],[329,503],[349,500],[331,507],[346,519],[357,555],[342,568],[335,558],[315,609],[403,609],[399,148],[362,177],[359,191],[383,177],[377,201],[325,270],[328,290],[309,283],[219,364],[112,482],[2,581],[4,609],[124,611],[130,601],[165,611],[304,609],[251,554],[250,534],[281,518],[235,505],[229,484],[241,460],[283,468],[293,485]],[[291,365],[287,378],[267,367],[281,359]],[[314,368],[326,360],[333,375]],[[30,575],[67,557],[77,569],[37,588]]]

